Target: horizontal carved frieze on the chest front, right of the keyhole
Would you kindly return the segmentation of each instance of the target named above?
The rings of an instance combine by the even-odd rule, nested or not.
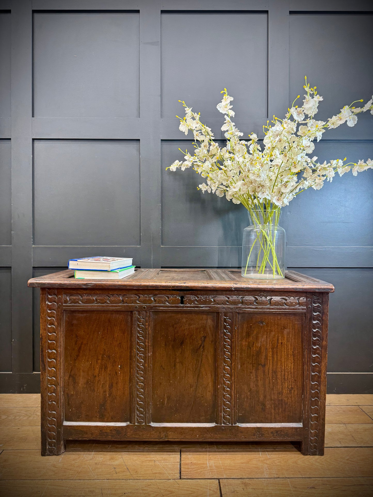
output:
[[[245,307],[306,307],[305,297],[273,297],[254,295],[186,295],[185,305],[245,306]]]

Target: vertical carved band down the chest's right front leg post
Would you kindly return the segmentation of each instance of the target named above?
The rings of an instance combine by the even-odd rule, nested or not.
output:
[[[318,453],[321,382],[322,295],[312,295],[311,388],[309,405],[309,454]]]

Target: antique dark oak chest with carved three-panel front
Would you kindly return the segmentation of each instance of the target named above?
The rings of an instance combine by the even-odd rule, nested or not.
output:
[[[322,455],[334,288],[285,275],[31,279],[41,287],[42,454],[93,439],[288,440]]]

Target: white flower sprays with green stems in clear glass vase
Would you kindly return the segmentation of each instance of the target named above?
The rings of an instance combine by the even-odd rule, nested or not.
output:
[[[344,123],[354,126],[357,114],[367,110],[373,114],[373,96],[363,107],[354,106],[363,100],[345,105],[339,114],[324,122],[314,119],[323,99],[317,93],[316,86],[310,87],[305,78],[303,88],[306,93],[301,106],[294,105],[300,98],[298,95],[291,108],[287,109],[284,119],[274,116],[272,124],[267,121],[267,125],[263,126],[263,150],[255,133],[249,135],[249,141],[240,138],[243,133],[231,120],[234,117],[230,104],[233,97],[228,95],[226,88],[221,92],[224,93],[223,99],[217,105],[217,109],[225,115],[221,129],[225,131],[227,144],[223,148],[214,141],[211,129],[200,122],[200,113],[192,112],[184,101],[179,100],[186,113],[185,117],[179,118],[179,129],[186,135],[189,130],[193,132],[194,155],[186,151],[185,161],[175,161],[168,169],[175,171],[193,167],[206,178],[206,182],[199,185],[203,193],[207,191],[219,197],[225,195],[227,200],[241,203],[249,211],[253,228],[246,245],[244,235],[243,276],[284,277],[284,236],[279,236],[281,207],[288,205],[307,188],[319,190],[325,180],[332,181],[336,172],[342,176],[352,168],[356,176],[358,172],[373,168],[371,159],[357,164],[345,164],[346,158],[320,164],[317,157],[308,156],[314,150],[313,141],[319,141],[326,129],[337,128]]]

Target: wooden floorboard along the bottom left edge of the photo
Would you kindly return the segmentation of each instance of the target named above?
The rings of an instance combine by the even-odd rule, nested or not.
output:
[[[6,480],[7,497],[219,497],[217,480]]]

